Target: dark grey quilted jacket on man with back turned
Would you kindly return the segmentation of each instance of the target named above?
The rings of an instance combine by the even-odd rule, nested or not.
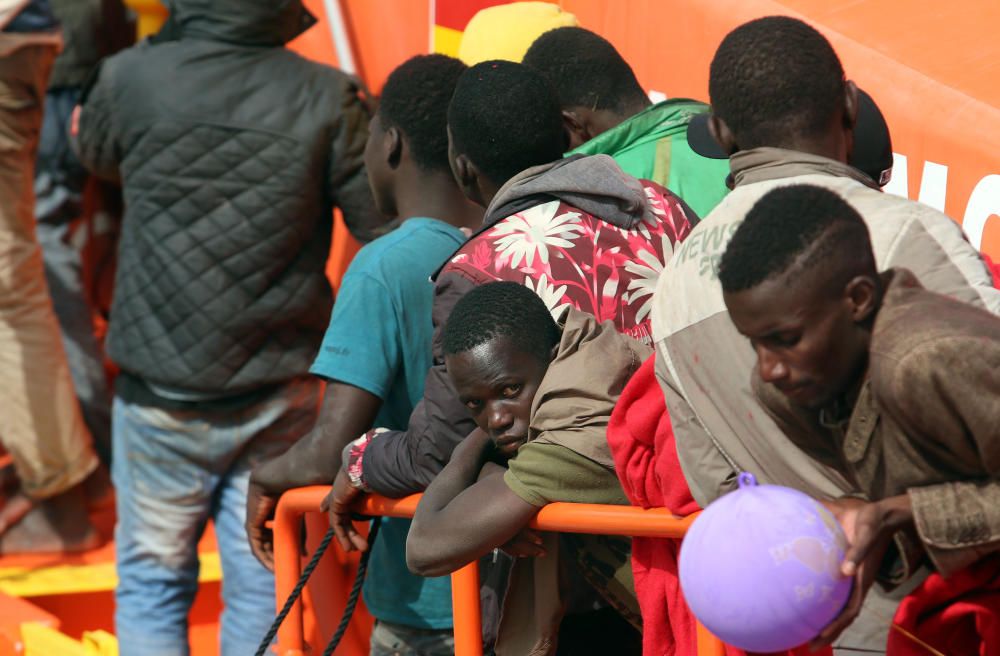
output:
[[[158,388],[238,395],[308,371],[333,207],[362,240],[383,222],[368,115],[283,47],[312,22],[299,0],[170,6],[172,38],[106,60],[79,117],[81,161],[125,196],[108,352]]]

